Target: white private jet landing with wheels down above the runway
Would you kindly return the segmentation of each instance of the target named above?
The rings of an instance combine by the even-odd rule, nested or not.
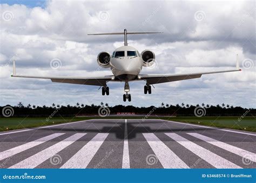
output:
[[[100,67],[110,68],[113,75],[103,77],[52,77],[52,76],[23,76],[16,74],[15,61],[13,62],[13,74],[11,77],[20,78],[38,78],[51,79],[52,82],[57,83],[72,83],[82,85],[95,85],[102,87],[102,95],[109,95],[108,82],[124,82],[123,100],[131,101],[131,94],[129,82],[144,81],[144,94],[151,94],[151,85],[167,82],[176,82],[179,80],[200,78],[203,74],[223,73],[241,71],[239,68],[239,61],[237,56],[237,65],[234,70],[213,71],[213,72],[198,72],[185,74],[140,74],[143,67],[152,66],[156,60],[154,52],[151,50],[144,50],[141,53],[127,44],[127,35],[134,34],[150,34],[163,32],[114,32],[114,33],[92,33],[88,35],[124,35],[124,46],[121,46],[113,51],[112,55],[109,52],[100,52],[97,57],[97,62]]]

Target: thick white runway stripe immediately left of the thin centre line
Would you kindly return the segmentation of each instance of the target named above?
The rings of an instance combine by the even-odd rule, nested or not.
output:
[[[109,133],[98,133],[60,168],[86,168]]]

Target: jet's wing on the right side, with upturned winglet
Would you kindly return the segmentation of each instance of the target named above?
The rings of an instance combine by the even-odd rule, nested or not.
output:
[[[139,80],[146,80],[148,84],[158,84],[167,82],[176,82],[178,80],[194,79],[200,78],[203,74],[213,74],[213,73],[223,73],[223,72],[235,72],[241,71],[239,68],[239,62],[237,57],[237,67],[235,70],[225,70],[225,71],[214,71],[214,72],[198,72],[198,73],[187,73],[187,74],[140,74],[138,76]]]

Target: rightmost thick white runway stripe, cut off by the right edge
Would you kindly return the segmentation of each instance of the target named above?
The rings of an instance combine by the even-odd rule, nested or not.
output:
[[[199,134],[199,133],[187,133],[187,134],[190,134],[193,137],[204,140],[207,143],[210,143],[214,146],[223,148],[226,151],[229,151],[229,152],[232,152],[234,154],[240,155],[241,157],[246,157],[247,159],[250,159],[251,161],[256,162],[256,154],[255,153],[243,150],[239,147],[235,147],[235,146],[232,146],[230,144],[223,143],[222,141],[218,141],[218,140],[212,139],[210,137],[206,137],[205,135],[202,135],[202,134]]]

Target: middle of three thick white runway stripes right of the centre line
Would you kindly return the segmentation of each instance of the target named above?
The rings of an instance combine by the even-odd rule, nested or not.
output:
[[[181,137],[176,133],[165,133],[165,134],[216,168],[241,168],[240,166],[233,164],[233,162],[230,162],[225,158],[222,158],[219,155],[214,154],[209,150],[206,150],[206,148],[203,148],[193,143],[192,141],[189,141]]]

